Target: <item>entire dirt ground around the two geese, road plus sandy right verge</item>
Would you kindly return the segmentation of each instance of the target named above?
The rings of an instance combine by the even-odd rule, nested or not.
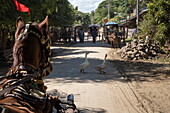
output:
[[[45,79],[48,93],[61,99],[74,94],[81,113],[170,113],[170,62],[123,60],[116,53],[119,49],[101,45],[91,41],[53,45],[53,72]],[[86,52],[90,66],[80,74]],[[99,74],[94,67],[105,54],[106,74]],[[0,75],[10,66],[1,62]]]

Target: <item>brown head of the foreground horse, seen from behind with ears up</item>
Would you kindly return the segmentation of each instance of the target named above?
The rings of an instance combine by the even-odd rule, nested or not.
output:
[[[49,54],[48,16],[41,23],[27,24],[21,17],[18,17],[13,47],[14,61],[10,73],[18,73],[20,70],[26,73],[34,73],[41,70],[44,72],[42,74],[48,75],[52,71]]]

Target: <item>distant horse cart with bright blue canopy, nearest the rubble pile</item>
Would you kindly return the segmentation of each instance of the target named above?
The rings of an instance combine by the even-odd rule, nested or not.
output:
[[[123,44],[125,42],[123,27],[115,22],[107,22],[104,24],[104,36],[113,48],[121,48],[122,40]]]

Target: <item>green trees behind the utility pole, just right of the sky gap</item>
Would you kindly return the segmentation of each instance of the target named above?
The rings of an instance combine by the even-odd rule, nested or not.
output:
[[[134,0],[110,0],[110,21],[119,22],[129,15],[130,8],[134,7]],[[95,10],[94,23],[103,24],[103,19],[108,18],[108,0],[104,0]]]

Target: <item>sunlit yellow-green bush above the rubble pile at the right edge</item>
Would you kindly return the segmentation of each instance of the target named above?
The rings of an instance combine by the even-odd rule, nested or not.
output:
[[[141,22],[141,34],[149,35],[159,44],[164,45],[170,38],[170,2],[169,0],[153,0],[148,4],[148,13]]]

